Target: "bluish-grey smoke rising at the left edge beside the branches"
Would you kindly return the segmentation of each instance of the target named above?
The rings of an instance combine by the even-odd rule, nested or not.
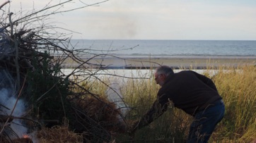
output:
[[[18,95],[15,91],[14,80],[11,75],[6,70],[0,70],[0,115],[13,117],[22,117],[24,115],[26,111],[24,101],[17,99]],[[1,125],[2,127],[3,125]],[[28,129],[22,125],[22,120],[17,118],[13,118],[4,129],[4,132],[11,138],[16,137],[16,135],[23,137],[23,135],[27,134],[27,131]]]

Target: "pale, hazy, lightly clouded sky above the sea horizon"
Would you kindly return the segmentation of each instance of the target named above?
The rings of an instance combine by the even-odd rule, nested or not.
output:
[[[10,11],[62,1],[13,0]],[[59,10],[97,2],[74,0]],[[73,39],[256,40],[255,0],[109,0],[51,18],[54,25],[73,31]]]

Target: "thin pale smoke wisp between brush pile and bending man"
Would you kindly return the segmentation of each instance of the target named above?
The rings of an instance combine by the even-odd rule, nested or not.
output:
[[[129,111],[129,107],[125,104],[122,94],[120,92],[120,86],[118,83],[112,83],[106,91],[107,99],[115,103],[117,108],[120,109],[122,116],[125,117]],[[118,118],[122,120],[122,116]]]

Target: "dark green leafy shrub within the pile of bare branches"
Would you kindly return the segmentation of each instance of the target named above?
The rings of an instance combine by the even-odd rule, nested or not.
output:
[[[34,70],[28,71],[26,80],[26,98],[32,116],[62,123],[70,108],[66,100],[69,96],[69,81],[61,77],[59,63],[54,63],[47,52],[42,59],[34,56],[32,64]]]

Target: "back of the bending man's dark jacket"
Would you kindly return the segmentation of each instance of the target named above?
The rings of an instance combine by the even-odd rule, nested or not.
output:
[[[194,115],[199,108],[205,108],[221,99],[214,83],[204,75],[191,70],[169,75],[158,92],[161,104],[171,100],[177,108]]]

